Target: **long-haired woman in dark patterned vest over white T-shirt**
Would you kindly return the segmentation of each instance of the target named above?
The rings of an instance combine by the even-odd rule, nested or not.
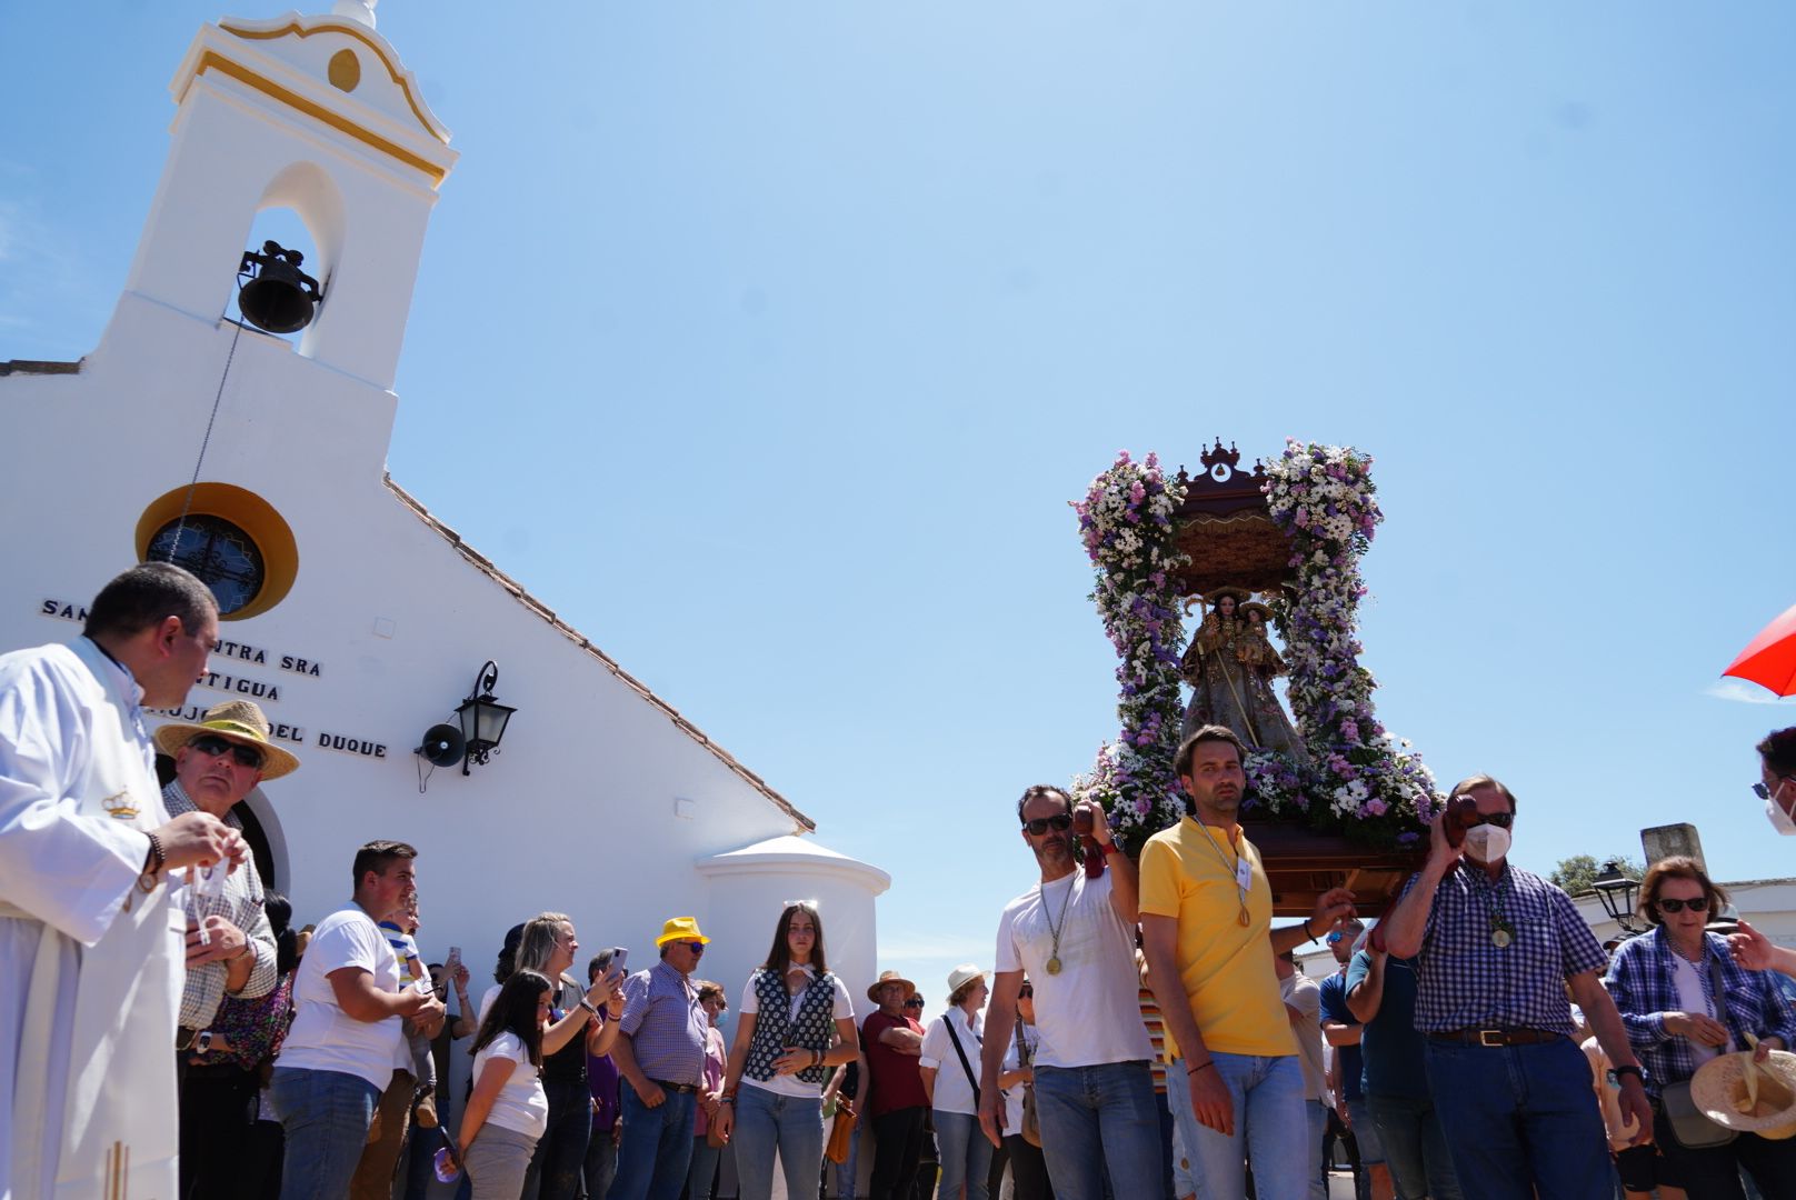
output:
[[[858,1054],[855,1008],[824,961],[815,900],[785,905],[736,1011],[717,1123],[736,1146],[738,1196],[772,1195],[774,1151],[787,1195],[810,1196],[823,1168],[823,1085]]]

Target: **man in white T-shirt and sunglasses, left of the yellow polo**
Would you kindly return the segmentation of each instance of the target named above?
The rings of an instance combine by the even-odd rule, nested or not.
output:
[[[1162,1189],[1160,1110],[1148,1062],[1153,1044],[1140,1020],[1135,974],[1135,864],[1110,835],[1103,807],[1085,801],[1092,837],[1108,869],[1090,878],[1072,857],[1072,798],[1031,787],[1017,801],[1022,839],[1042,882],[999,918],[997,977],[981,1053],[979,1123],[993,1144],[1004,1096],[997,1087],[1027,972],[1042,1044],[1034,1054],[1034,1107],[1042,1153],[1060,1200],[1101,1200],[1108,1168],[1115,1196]]]

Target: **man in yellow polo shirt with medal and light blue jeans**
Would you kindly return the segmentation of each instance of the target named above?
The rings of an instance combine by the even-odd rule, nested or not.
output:
[[[1142,950],[1173,1054],[1166,1099],[1198,1195],[1243,1200],[1252,1159],[1259,1200],[1306,1200],[1304,1069],[1272,957],[1351,916],[1352,893],[1334,887],[1302,925],[1272,927],[1272,886],[1236,823],[1245,753],[1223,726],[1178,747],[1187,816],[1140,851]]]

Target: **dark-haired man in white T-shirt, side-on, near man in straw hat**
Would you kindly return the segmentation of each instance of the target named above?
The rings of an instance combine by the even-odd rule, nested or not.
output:
[[[393,1071],[411,1063],[406,1019],[427,1037],[442,1024],[442,1001],[404,986],[379,925],[417,895],[417,855],[388,841],[357,850],[354,904],[318,923],[300,959],[271,1085],[287,1134],[282,1200],[348,1195],[375,1105]]]

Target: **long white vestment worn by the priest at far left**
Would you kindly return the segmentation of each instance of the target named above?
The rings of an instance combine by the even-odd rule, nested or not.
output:
[[[86,638],[0,656],[0,1200],[176,1195],[185,916],[142,690]]]

